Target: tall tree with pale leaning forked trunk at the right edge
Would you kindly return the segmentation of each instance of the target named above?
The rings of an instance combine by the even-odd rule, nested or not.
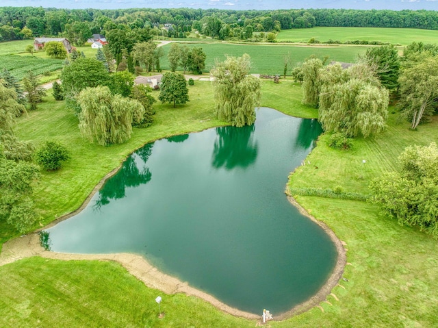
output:
[[[400,74],[400,107],[411,129],[430,118],[438,106],[438,56],[420,55]]]

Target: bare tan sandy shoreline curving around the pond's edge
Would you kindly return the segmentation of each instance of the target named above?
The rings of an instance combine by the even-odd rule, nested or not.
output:
[[[129,273],[131,273],[131,275],[142,281],[146,286],[150,288],[161,290],[166,294],[175,294],[177,292],[183,292],[188,295],[200,297],[201,299],[211,303],[211,305],[214,305],[219,310],[226,312],[228,314],[232,314],[233,316],[240,316],[242,318],[247,318],[250,320],[260,319],[261,314],[260,315],[252,314],[249,312],[244,312],[235,309],[233,307],[230,307],[229,305],[222,303],[212,295],[189,286],[187,282],[180,281],[175,277],[171,277],[170,275],[166,275],[160,272],[157,268],[151,266],[151,264],[149,264],[149,262],[147,262],[147,260],[140,255],[135,255],[131,253],[116,253],[116,254],[55,253],[51,251],[45,251],[40,246],[38,231],[47,229],[49,227],[53,227],[53,225],[56,225],[60,221],[66,220],[67,218],[70,218],[71,216],[74,216],[79,212],[81,212],[81,210],[83,210],[88,205],[94,194],[97,191],[99,191],[99,189],[103,186],[105,181],[108,178],[112,177],[112,175],[116,174],[119,168],[116,168],[110,173],[108,173],[107,175],[105,175],[105,177],[101,180],[101,182],[99,182],[99,184],[97,184],[94,187],[93,191],[83,202],[81,207],[79,207],[76,211],[66,214],[60,218],[57,218],[56,220],[53,220],[52,223],[50,223],[49,225],[47,225],[42,229],[38,229],[36,232],[32,234],[21,236],[19,238],[15,238],[13,240],[9,240],[8,242],[5,242],[5,244],[3,244],[2,251],[0,253],[0,266],[31,256],[41,256],[53,260],[67,260],[67,261],[68,260],[116,261],[122,264],[129,271]],[[287,318],[290,318],[292,316],[310,310],[312,307],[319,305],[322,301],[326,301],[326,297],[331,294],[331,290],[335,286],[337,286],[339,279],[342,277],[342,273],[344,273],[344,267],[346,265],[346,251],[344,249],[344,245],[342,244],[342,241],[339,240],[339,238],[337,238],[335,233],[325,223],[322,223],[322,221],[317,220],[309,213],[307,213],[307,211],[301,205],[299,205],[293,197],[288,195],[287,199],[293,206],[298,208],[301,214],[307,216],[309,219],[313,220],[315,223],[320,225],[320,227],[324,229],[326,234],[329,235],[332,242],[335,244],[337,250],[337,261],[335,264],[335,268],[333,269],[333,272],[327,279],[326,283],[324,283],[324,286],[322,286],[322,288],[320,288],[320,290],[315,295],[307,299],[307,301],[294,306],[291,310],[287,312],[284,312],[282,314],[273,314],[274,320],[285,320]]]

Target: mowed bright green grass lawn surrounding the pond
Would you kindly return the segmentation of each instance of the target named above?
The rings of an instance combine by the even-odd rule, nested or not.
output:
[[[298,105],[297,84],[263,81],[262,91],[262,105],[291,115],[316,114]],[[55,139],[72,151],[72,159],[61,171],[43,173],[36,190],[42,223],[74,210],[103,175],[144,142],[222,124],[214,118],[212,96],[209,82],[195,81],[188,105],[176,109],[157,105],[153,126],[135,129],[129,142],[111,147],[84,142],[75,116],[49,98],[36,112],[20,118],[16,133],[21,139],[37,144]],[[300,166],[289,183],[367,192],[370,179],[397,167],[396,157],[404,147],[438,138],[438,120],[409,131],[409,124],[399,124],[397,118],[398,113],[391,114],[384,134],[359,138],[348,152],[329,148],[328,137],[322,136],[307,158],[311,164]],[[363,166],[362,160],[366,160]],[[437,327],[436,240],[417,229],[400,227],[379,214],[376,205],[319,197],[297,199],[346,242],[347,280],[339,281],[333,295],[320,303],[324,312],[314,307],[300,316],[270,323],[271,327]],[[154,301],[158,294],[166,312],[161,320]],[[194,297],[146,288],[118,264],[31,257],[0,267],[0,326],[255,327],[255,322],[222,314]]]

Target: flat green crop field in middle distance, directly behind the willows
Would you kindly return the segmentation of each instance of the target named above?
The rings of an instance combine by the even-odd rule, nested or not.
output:
[[[292,45],[242,45],[229,43],[188,43],[188,47],[201,47],[207,55],[205,61],[205,70],[209,71],[215,63],[215,60],[222,61],[225,55],[242,56],[244,53],[250,55],[253,67],[250,73],[260,74],[283,74],[283,62],[287,53],[290,54],[292,65],[302,62],[310,55],[316,55],[323,58],[329,55],[329,60],[337,62],[354,62],[359,53],[365,53],[366,47],[300,47]],[[170,45],[163,47],[164,57],[162,59],[162,68],[169,69],[167,53]]]

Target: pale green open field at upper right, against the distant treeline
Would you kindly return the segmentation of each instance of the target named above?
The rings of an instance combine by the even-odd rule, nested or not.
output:
[[[438,31],[430,29],[396,29],[385,27],[312,27],[311,29],[285,29],[278,42],[307,42],[315,38],[320,42],[328,40],[367,40],[409,45],[411,42],[438,43]]]

